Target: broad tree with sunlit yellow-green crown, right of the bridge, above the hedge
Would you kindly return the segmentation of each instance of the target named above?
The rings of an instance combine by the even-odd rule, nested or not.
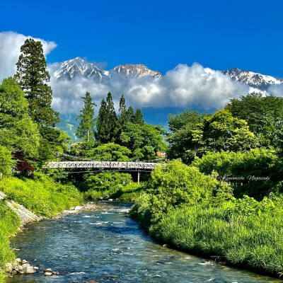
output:
[[[186,163],[207,151],[245,151],[258,144],[247,122],[232,117],[227,110],[212,116],[184,112],[172,116],[169,125],[169,157],[180,157]]]

